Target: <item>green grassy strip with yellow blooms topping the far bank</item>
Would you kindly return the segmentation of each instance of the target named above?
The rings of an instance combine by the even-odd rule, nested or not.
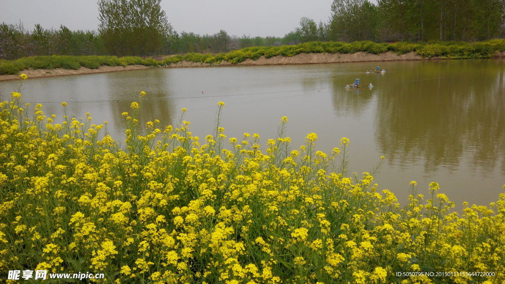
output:
[[[221,54],[195,54],[176,55],[166,57],[163,60],[140,57],[115,57],[115,56],[36,56],[17,60],[0,61],[0,75],[17,74],[24,69],[79,69],[87,67],[96,69],[100,66],[170,66],[171,64],[188,61],[209,64],[218,64],[228,61],[232,64],[243,62],[247,59],[257,60],[265,56],[271,58],[275,56],[291,57],[301,53],[341,53],[352,54],[356,52],[367,52],[371,54],[381,54],[394,52],[396,54],[407,54],[415,52],[423,58],[489,58],[496,52],[505,51],[505,39],[493,39],[482,42],[441,42],[441,43],[376,43],[372,41],[356,42],[306,42],[297,45],[263,46],[251,47],[229,53]]]

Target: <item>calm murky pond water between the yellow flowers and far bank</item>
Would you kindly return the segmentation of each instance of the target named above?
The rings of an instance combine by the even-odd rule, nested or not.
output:
[[[386,72],[369,73],[377,63],[340,63],[260,67],[151,69],[34,78],[23,82],[23,100],[42,103],[46,115],[67,113],[123,139],[121,113],[138,93],[147,96],[140,121],[177,123],[181,108],[194,135],[212,134],[217,107],[226,104],[222,126],[228,137],[259,133],[275,138],[282,116],[289,118],[292,148],[316,132],[326,153],[351,141],[349,172],[370,171],[386,159],[375,176],[379,190],[389,189],[404,202],[411,180],[427,195],[437,181],[440,192],[461,206],[488,205],[505,184],[505,61],[452,60],[381,62]],[[361,79],[369,89],[345,89]],[[0,82],[9,97],[19,81]],[[59,119],[56,121],[60,121]]]

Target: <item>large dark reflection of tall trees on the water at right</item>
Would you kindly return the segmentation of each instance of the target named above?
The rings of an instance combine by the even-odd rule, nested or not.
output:
[[[420,66],[421,65],[421,66]],[[377,104],[380,150],[402,166],[424,161],[425,171],[505,172],[504,69],[499,61],[418,64],[384,84]]]

